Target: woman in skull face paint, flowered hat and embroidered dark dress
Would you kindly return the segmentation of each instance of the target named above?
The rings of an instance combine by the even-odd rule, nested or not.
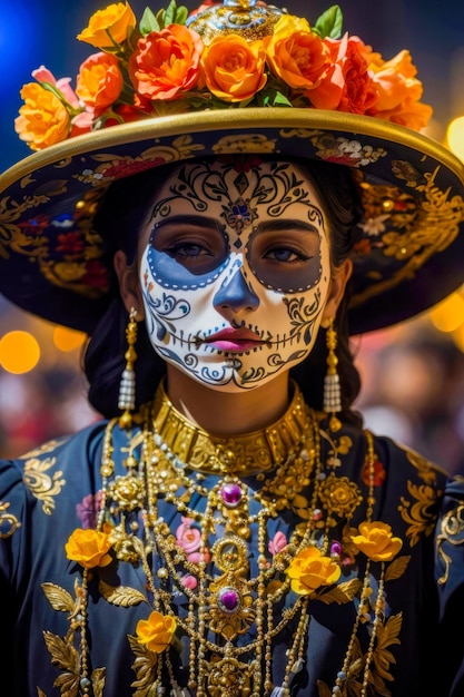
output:
[[[82,82],[73,106],[45,69],[23,89],[17,128],[43,153],[0,183],[1,289],[89,333],[103,416],[0,463],[3,688],[457,696],[462,483],[363,431],[349,335],[462,283],[463,167],[375,118],[382,59],[328,38],[327,18],[315,33],[219,7],[186,28],[171,7],[174,22],[140,37],[129,10],[80,35],[119,51],[103,51],[89,110]],[[283,70],[283,41],[319,73]],[[162,53],[151,81],[147,52]],[[188,69],[167,94],[172,65]],[[101,106],[125,67],[131,108],[127,86]],[[344,109],[347,67],[361,116]],[[348,72],[338,108],[320,110]],[[427,112],[406,73],[417,100],[393,120]],[[269,82],[288,108],[266,106]],[[189,110],[201,99],[214,108]],[[115,114],[140,120],[98,130]],[[89,115],[97,130],[76,135]]]

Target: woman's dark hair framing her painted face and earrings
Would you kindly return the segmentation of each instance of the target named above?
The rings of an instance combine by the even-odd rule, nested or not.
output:
[[[297,160],[297,164],[314,180],[322,198],[328,217],[332,264],[336,268],[349,256],[355,242],[353,230],[357,220],[358,193],[354,178],[347,167],[306,160]],[[137,233],[147,214],[147,206],[157,188],[169,178],[172,168],[178,167],[179,163],[166,165],[120,179],[109,187],[95,219],[96,229],[106,240],[109,258],[112,258],[117,249],[122,249],[129,263],[135,259]],[[83,355],[89,401],[106,418],[119,414],[119,381],[125,367],[124,355],[127,348],[125,331],[128,314],[120,298],[116,277],[112,282],[112,301],[89,340]],[[359,425],[361,415],[353,410],[353,403],[359,393],[361,380],[349,347],[348,303],[349,287],[335,318],[338,336],[338,372],[343,416]],[[152,348],[144,322],[138,323],[136,352],[136,394],[139,406],[152,399],[156,386],[165,374],[165,363]],[[316,410],[323,408],[326,356],[325,331],[320,330],[310,355],[290,371],[306,402]]]

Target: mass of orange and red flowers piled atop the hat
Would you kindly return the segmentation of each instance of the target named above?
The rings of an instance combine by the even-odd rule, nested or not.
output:
[[[99,49],[71,78],[45,66],[21,89],[14,127],[32,150],[117,124],[187,111],[303,107],[424,128],[432,108],[407,50],[385,61],[343,33],[338,6],[315,22],[259,1],[177,7],[140,22],[128,2],[95,12],[77,37]]]

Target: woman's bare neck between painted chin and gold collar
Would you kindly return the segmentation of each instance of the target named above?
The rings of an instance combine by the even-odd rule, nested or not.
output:
[[[221,392],[167,365],[166,392],[174,406],[205,431],[237,435],[264,429],[285,413],[292,399],[288,382],[285,372],[255,390]]]

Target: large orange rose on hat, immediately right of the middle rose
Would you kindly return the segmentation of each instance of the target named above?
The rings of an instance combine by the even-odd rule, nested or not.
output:
[[[283,14],[265,46],[270,70],[293,89],[313,89],[330,65],[328,47],[304,18]]]

